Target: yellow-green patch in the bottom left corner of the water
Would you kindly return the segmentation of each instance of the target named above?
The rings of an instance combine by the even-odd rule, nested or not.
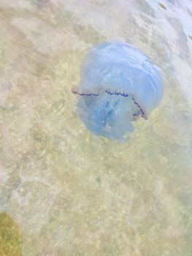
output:
[[[8,214],[0,214],[0,255],[22,256],[22,236],[18,225]]]

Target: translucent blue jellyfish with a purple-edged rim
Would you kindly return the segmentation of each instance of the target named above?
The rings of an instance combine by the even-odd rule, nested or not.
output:
[[[77,113],[94,135],[126,140],[139,116],[148,118],[164,94],[160,69],[126,42],[104,42],[85,56],[80,70]]]

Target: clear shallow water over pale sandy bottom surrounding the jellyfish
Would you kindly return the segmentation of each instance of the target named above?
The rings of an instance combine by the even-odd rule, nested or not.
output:
[[[23,255],[192,255],[192,4],[180,2],[0,1],[0,211]],[[164,75],[128,143],[91,135],[71,92],[110,39]]]

